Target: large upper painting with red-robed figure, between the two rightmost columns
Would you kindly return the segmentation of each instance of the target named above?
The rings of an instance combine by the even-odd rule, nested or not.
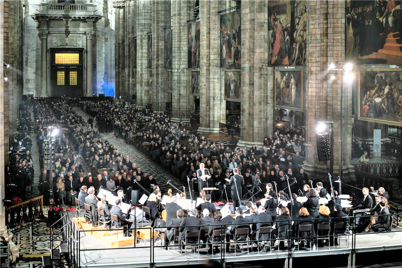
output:
[[[268,63],[306,65],[307,0],[268,1]]]

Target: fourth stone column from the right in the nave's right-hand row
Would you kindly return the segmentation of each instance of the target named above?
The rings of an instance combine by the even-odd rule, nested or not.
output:
[[[211,4],[213,2],[219,1],[211,1]],[[172,16],[172,121],[189,122],[193,96],[191,95],[191,69],[187,64],[187,20],[194,18],[194,1],[173,0]]]

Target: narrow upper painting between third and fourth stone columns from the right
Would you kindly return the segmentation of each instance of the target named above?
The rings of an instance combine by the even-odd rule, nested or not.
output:
[[[188,67],[200,68],[200,21],[188,25]]]

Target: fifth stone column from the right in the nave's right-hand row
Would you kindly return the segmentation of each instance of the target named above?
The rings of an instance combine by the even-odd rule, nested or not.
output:
[[[165,70],[165,30],[170,26],[170,0],[152,0],[152,108],[164,111],[167,71]]]

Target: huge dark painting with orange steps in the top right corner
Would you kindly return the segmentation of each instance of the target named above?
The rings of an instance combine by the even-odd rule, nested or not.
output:
[[[357,64],[402,63],[401,4],[401,0],[347,0],[345,58]]]

